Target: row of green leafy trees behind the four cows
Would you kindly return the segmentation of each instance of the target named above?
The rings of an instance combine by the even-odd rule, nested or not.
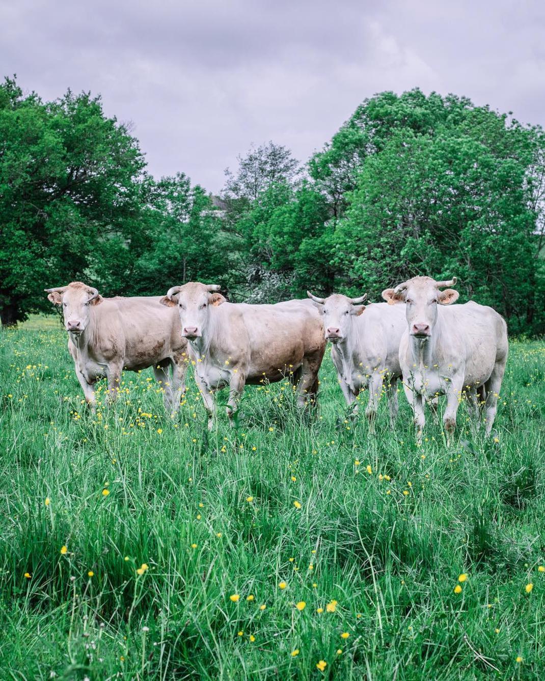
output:
[[[0,315],[48,309],[44,287],[105,295],[221,283],[232,300],[380,291],[458,276],[462,300],[514,333],[545,331],[545,138],[469,99],[366,99],[304,165],[265,144],[213,197],[156,180],[100,97],[53,102],[0,85]],[[183,159],[181,159],[183,163]]]

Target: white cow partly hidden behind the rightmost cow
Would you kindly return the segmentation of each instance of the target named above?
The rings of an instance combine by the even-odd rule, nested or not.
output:
[[[322,315],[326,340],[332,344],[331,359],[347,405],[354,404],[360,391],[367,387],[369,400],[365,415],[373,431],[378,400],[386,379],[393,424],[398,410],[399,341],[406,326],[405,306],[392,307],[386,303],[365,306],[361,304],[367,298],[365,295],[348,298],[333,294],[318,298],[307,291],[307,296]],[[358,402],[354,412],[357,410]]]

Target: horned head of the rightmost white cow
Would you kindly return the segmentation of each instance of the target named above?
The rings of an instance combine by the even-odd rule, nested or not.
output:
[[[437,305],[450,305],[458,300],[458,291],[446,289],[456,285],[456,277],[452,281],[435,281],[431,276],[414,276],[413,279],[399,284],[394,289],[382,291],[382,298],[389,305],[399,302],[407,304],[406,314],[409,334],[416,338],[429,338],[437,321]]]

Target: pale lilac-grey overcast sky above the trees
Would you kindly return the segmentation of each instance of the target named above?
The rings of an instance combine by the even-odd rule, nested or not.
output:
[[[538,0],[0,0],[0,65],[44,99],[101,93],[155,176],[216,193],[250,144],[306,161],[382,90],[545,123],[544,31]]]

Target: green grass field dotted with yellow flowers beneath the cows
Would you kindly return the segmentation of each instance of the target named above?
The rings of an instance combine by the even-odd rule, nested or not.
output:
[[[311,422],[276,384],[208,433],[151,371],[93,417],[57,329],[0,336],[1,680],[545,678],[545,343],[497,441],[462,405],[417,448],[403,395],[345,418],[329,359]]]

